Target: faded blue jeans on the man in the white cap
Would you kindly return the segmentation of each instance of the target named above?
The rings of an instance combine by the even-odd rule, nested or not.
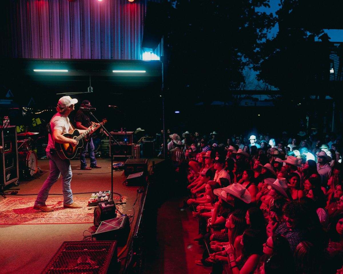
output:
[[[45,201],[48,199],[50,188],[57,182],[60,174],[62,174],[63,203],[73,203],[73,193],[70,189],[70,182],[73,174],[71,172],[70,161],[68,159],[62,160],[56,151],[54,154],[47,152],[46,156],[49,159],[50,175],[45,180],[42,188],[39,190],[35,201],[35,206],[45,206]]]

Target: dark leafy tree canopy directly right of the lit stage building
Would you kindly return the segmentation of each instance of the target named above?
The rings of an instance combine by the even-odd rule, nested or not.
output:
[[[272,14],[267,0],[179,0],[169,9],[167,85],[183,95],[239,89],[244,68],[256,62]]]

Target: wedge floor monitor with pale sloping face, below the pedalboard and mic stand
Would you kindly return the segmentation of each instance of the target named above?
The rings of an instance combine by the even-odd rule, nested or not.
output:
[[[117,240],[119,246],[125,246],[130,233],[128,216],[106,220],[100,223],[92,238],[96,240]]]

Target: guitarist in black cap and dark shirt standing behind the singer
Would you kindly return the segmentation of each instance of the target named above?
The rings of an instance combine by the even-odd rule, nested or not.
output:
[[[82,108],[92,108],[90,101],[84,100],[81,103]],[[75,122],[77,129],[87,129],[90,125],[93,124],[90,119],[89,112],[86,110],[79,109],[75,115]],[[88,151],[89,158],[91,159],[91,166],[87,166],[86,162],[86,153]],[[93,139],[91,136],[84,139],[83,141],[83,148],[80,150],[80,162],[81,162],[81,169],[82,170],[91,170],[93,169],[101,169],[101,166],[96,164],[96,159],[94,156],[94,144]]]

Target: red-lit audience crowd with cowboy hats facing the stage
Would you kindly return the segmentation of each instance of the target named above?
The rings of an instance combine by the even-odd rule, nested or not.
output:
[[[169,135],[177,179],[199,221],[194,240],[207,247],[195,263],[212,274],[342,274],[339,136],[223,138]]]

